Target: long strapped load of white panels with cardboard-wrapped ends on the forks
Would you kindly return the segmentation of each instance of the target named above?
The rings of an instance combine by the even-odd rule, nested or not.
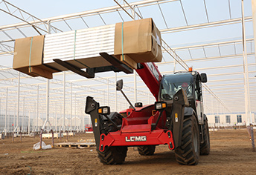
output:
[[[80,69],[110,66],[100,56],[103,52],[132,69],[139,62],[161,62],[161,34],[152,19],[141,19],[17,39],[13,69],[51,79],[52,73],[67,70],[54,59]]]

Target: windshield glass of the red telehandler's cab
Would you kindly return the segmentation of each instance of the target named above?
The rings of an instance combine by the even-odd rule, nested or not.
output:
[[[164,76],[161,81],[160,99],[173,99],[173,95],[181,88],[187,93],[188,98],[191,97],[193,95],[192,78],[191,73]]]

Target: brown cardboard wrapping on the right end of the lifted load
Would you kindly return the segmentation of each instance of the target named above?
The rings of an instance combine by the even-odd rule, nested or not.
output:
[[[153,19],[115,24],[114,55],[123,52],[135,62],[161,62],[161,33]]]

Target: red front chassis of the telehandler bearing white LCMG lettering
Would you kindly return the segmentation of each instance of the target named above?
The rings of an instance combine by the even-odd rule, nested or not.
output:
[[[168,145],[174,149],[173,133],[164,126],[166,114],[163,113],[159,124],[153,130],[152,124],[156,123],[159,112],[153,110],[153,105],[142,108],[127,109],[121,112],[127,115],[123,118],[120,131],[102,133],[100,135],[100,151],[108,146],[140,146],[140,145]],[[153,113],[153,116],[151,116]],[[129,115],[128,115],[129,114]],[[150,116],[150,118],[148,117]]]

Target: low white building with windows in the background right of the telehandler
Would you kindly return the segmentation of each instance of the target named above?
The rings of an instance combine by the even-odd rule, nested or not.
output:
[[[207,114],[209,126],[247,125],[246,113],[215,113]],[[256,123],[256,114],[253,113],[252,122]]]

